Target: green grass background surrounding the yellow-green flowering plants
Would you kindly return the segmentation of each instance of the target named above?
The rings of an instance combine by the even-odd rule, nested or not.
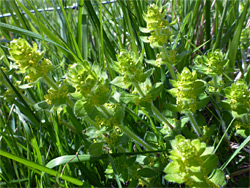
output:
[[[137,57],[145,51],[144,59],[157,58],[160,49],[143,42],[149,34],[141,29],[147,27],[144,15],[153,3],[166,10],[169,22],[176,21],[166,47],[176,51],[175,73],[181,73],[184,67],[195,69],[197,55],[219,49],[225,54],[231,70],[222,76],[223,87],[242,78],[249,91],[248,0],[1,0],[1,187],[184,187],[184,184],[166,181],[164,168],[169,163],[166,157],[171,150],[169,140],[177,134],[197,138],[192,130],[192,117],[201,128],[206,125],[210,130],[205,142],[216,148],[217,167],[225,176],[224,186],[249,187],[250,138],[247,129],[250,109],[244,113],[245,127],[241,132],[236,132],[236,116],[232,110],[213,102],[225,99],[221,94],[208,95],[208,103],[192,117],[180,114],[166,104],[166,101],[175,104],[175,98],[167,92],[172,88],[169,67],[159,68],[143,60],[143,70],[155,68],[150,81],[153,84],[161,82],[164,86],[153,101],[154,105],[171,124],[175,123],[173,119],[180,121],[181,129],[173,134],[164,132],[164,123],[148,115],[140,106],[128,103],[124,110],[124,126],[150,143],[150,147],[158,149],[148,151],[136,138],[129,136],[120,144],[125,151],[125,155],[121,155],[116,146],[93,145],[93,138],[98,137],[96,132],[92,138],[85,134],[90,123],[85,118],[77,118],[68,105],[46,104],[44,96],[48,93],[48,84],[40,79],[30,87],[24,79],[25,73],[16,72],[9,58],[10,41],[23,38],[30,44],[37,43],[41,51],[46,50],[44,57],[56,67],[48,75],[57,84],[65,80],[70,65],[83,60],[97,63],[112,81],[118,76],[113,64],[122,49]],[[198,76],[210,81],[201,73]],[[112,91],[115,90],[124,91],[112,86]],[[133,90],[125,91],[132,94]],[[157,139],[159,130],[165,145]],[[160,167],[150,164],[150,160],[161,164]],[[123,169],[130,169],[130,172]]]

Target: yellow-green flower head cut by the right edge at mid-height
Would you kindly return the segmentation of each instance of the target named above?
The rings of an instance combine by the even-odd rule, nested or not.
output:
[[[224,92],[227,98],[225,102],[230,104],[232,111],[238,114],[250,111],[250,90],[248,90],[244,80],[239,79],[231,87],[225,88]]]

